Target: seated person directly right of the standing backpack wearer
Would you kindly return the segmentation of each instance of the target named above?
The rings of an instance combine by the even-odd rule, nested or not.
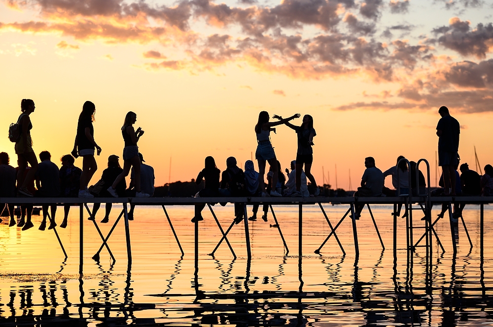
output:
[[[38,197],[58,197],[60,196],[60,169],[51,162],[51,154],[48,151],[42,151],[39,154],[41,161],[36,171],[36,196]],[[39,226],[39,230],[46,229],[46,219],[48,217],[48,207],[50,205],[43,204],[43,221]],[[57,213],[56,204],[51,205],[51,220],[48,229],[53,229],[57,226],[55,215]]]

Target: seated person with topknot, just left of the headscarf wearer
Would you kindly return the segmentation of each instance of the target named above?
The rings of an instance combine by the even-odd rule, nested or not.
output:
[[[235,157],[226,159],[226,170],[221,174],[221,196],[246,196],[245,173],[236,164]],[[239,224],[244,218],[243,203],[235,202],[235,224]]]

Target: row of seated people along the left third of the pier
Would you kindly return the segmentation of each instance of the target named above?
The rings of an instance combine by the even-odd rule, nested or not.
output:
[[[141,189],[152,196],[154,193],[154,169],[144,164],[142,154],[139,153],[141,159]],[[35,181],[28,185],[28,190],[36,197],[78,197],[80,188],[80,175],[82,170],[74,166],[75,160],[72,155],[64,155],[60,161],[62,163],[59,168],[56,163],[51,161],[51,154],[48,151],[42,151],[39,154],[38,168],[35,174]],[[18,167],[14,168],[10,164],[10,158],[6,152],[0,153],[0,197],[15,197],[17,196],[16,176]],[[30,167],[27,167],[24,174],[27,174]],[[93,186],[89,188],[89,192],[96,197],[112,197],[107,193],[107,188],[110,187],[115,181],[116,177],[123,171],[119,163],[119,157],[111,155],[108,157],[108,167],[103,171],[101,179]],[[130,176],[130,185],[127,189],[125,179],[123,179],[117,186],[116,192],[119,196],[135,196],[134,188],[134,171]],[[75,201],[74,201],[75,202]],[[0,212],[3,211],[5,206],[8,209],[10,222],[9,226],[21,227],[22,230],[27,230],[34,227],[32,222],[33,204],[21,205],[21,218],[17,223],[14,219],[14,205],[0,203]],[[93,211],[89,220],[93,220],[98,212],[101,203],[94,203]],[[130,211],[128,213],[129,220],[133,220],[135,206],[131,204]],[[49,218],[48,229],[53,229],[57,226],[55,222],[55,215],[57,211],[56,205],[44,204],[42,206],[43,219],[39,226],[40,230],[45,230],[47,220]],[[61,228],[67,227],[67,220],[69,217],[70,204],[64,205],[64,219],[60,224]],[[109,214],[111,212],[111,203],[106,203],[106,215],[101,221],[107,223],[109,221]],[[2,220],[0,219],[0,222]]]

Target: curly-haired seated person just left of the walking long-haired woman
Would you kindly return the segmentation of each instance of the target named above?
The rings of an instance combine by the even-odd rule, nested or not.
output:
[[[62,162],[62,167],[60,168],[60,196],[77,197],[80,189],[80,175],[82,174],[82,170],[73,165],[75,160],[72,155],[65,155],[60,161]],[[65,204],[64,218],[62,224],[60,224],[61,228],[67,227],[69,212],[70,204]]]

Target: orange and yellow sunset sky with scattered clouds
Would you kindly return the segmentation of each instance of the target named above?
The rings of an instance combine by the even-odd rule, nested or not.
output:
[[[195,178],[206,156],[243,167],[266,110],[314,117],[318,185],[355,189],[365,157],[386,170],[403,155],[427,159],[434,186],[441,105],[460,123],[461,163],[475,169],[474,147],[493,163],[492,21],[482,0],[2,0],[0,151],[15,165],[8,126],[32,98],[33,148],[60,165],[91,100],[103,148],[91,184],[121,157],[134,111],[159,186]],[[276,132],[285,168],[296,134]]]

